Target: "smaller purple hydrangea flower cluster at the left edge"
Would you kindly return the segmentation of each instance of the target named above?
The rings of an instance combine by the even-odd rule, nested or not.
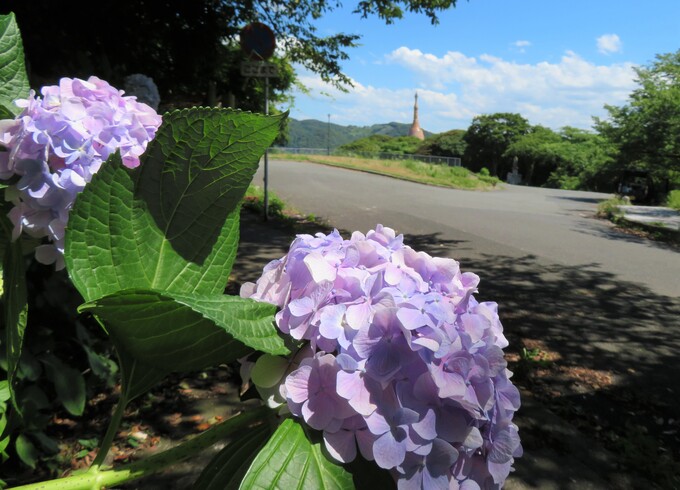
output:
[[[161,117],[135,97],[97,77],[62,78],[59,85],[31,91],[15,103],[23,111],[0,122],[0,178],[19,176],[8,189],[13,238],[22,231],[51,244],[36,248],[36,259],[63,267],[64,229],[76,196],[102,163],[120,151],[123,164],[139,157],[156,134]]]

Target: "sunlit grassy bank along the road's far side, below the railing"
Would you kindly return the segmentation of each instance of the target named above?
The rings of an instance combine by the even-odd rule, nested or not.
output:
[[[490,190],[500,183],[497,177],[476,174],[463,167],[449,167],[417,160],[379,160],[334,155],[292,155],[284,153],[274,155],[286,160],[322,163],[452,189]]]

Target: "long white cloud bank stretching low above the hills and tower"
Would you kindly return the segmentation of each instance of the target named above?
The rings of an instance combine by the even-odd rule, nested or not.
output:
[[[571,51],[554,63],[527,64],[456,51],[436,56],[401,47],[387,55],[384,64],[401,67],[409,85],[384,88],[357,80],[343,93],[315,74],[299,71],[310,95],[298,94],[292,117],[325,120],[330,113],[333,122],[343,125],[410,123],[417,89],[421,126],[433,132],[464,129],[474,116],[494,112],[518,112],[532,124],[555,129],[590,128],[592,116],[606,115],[605,104],[625,103],[635,87],[631,63],[596,65]]]

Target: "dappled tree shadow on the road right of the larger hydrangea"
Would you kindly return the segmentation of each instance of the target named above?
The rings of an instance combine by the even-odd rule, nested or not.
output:
[[[653,375],[647,386],[680,386],[680,300],[597,267],[546,266],[533,255],[465,261],[482,276],[479,296],[501,305],[511,334],[542,338],[580,365],[622,373],[635,367]]]

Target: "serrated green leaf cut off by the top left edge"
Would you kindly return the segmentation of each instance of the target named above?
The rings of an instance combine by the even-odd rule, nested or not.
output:
[[[19,114],[21,110],[13,102],[28,97],[29,90],[19,26],[14,14],[0,15],[0,119]]]

